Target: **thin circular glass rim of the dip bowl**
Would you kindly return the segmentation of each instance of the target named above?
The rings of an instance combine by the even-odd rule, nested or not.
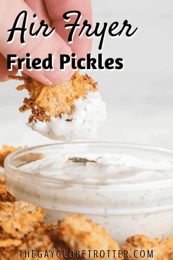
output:
[[[167,148],[161,148],[161,147],[157,147],[157,146],[149,146],[149,145],[144,145],[144,144],[133,144],[133,143],[123,143],[123,142],[61,142],[61,143],[53,143],[53,144],[44,144],[44,145],[38,145],[38,146],[32,146],[32,147],[26,147],[26,148],[22,148],[20,150],[14,151],[12,153],[10,153],[4,161],[4,167],[5,167],[5,172],[7,170],[12,170],[16,172],[19,172],[20,174],[24,175],[25,177],[31,177],[31,176],[36,176],[38,177],[38,180],[42,179],[42,181],[50,181],[51,185],[57,186],[57,184],[65,182],[65,183],[72,183],[73,185],[82,185],[83,186],[88,186],[88,187],[93,187],[93,186],[97,186],[100,188],[103,188],[104,190],[106,189],[106,187],[108,188],[108,190],[113,189],[116,187],[116,189],[118,190],[139,190],[139,189],[155,189],[155,188],[159,188],[159,187],[171,187],[173,186],[173,178],[169,178],[169,179],[161,179],[161,180],[153,180],[150,181],[147,180],[143,183],[131,183],[131,184],[120,184],[120,183],[107,183],[104,182],[103,185],[101,185],[100,183],[97,182],[85,182],[85,183],[79,183],[77,181],[73,181],[73,180],[61,180],[61,179],[55,179],[52,177],[44,177],[42,175],[36,175],[36,174],[30,174],[29,172],[25,172],[24,170],[19,170],[18,168],[16,168],[15,166],[13,166],[11,164],[11,160],[17,156],[17,155],[22,155],[22,153],[26,153],[27,151],[32,151],[35,149],[39,149],[39,148],[46,148],[46,147],[51,147],[51,146],[59,146],[59,145],[78,145],[78,144],[104,144],[104,145],[112,145],[112,146],[122,146],[122,147],[128,147],[128,148],[143,148],[143,149],[148,149],[150,151],[153,152],[165,152],[165,153],[172,153],[173,156],[173,150],[171,149],[167,149]],[[16,174],[17,175],[17,174]]]

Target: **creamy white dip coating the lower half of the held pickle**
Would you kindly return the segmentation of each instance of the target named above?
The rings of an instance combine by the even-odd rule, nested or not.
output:
[[[98,91],[91,91],[74,101],[75,108],[70,115],[61,114],[61,118],[52,116],[49,122],[33,121],[26,123],[34,131],[52,140],[72,141],[77,139],[93,139],[97,129],[107,118],[106,103]]]

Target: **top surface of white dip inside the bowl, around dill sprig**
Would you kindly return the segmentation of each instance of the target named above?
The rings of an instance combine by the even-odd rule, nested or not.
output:
[[[75,163],[69,158],[87,158],[95,162]],[[131,182],[160,180],[173,177],[168,161],[148,161],[132,155],[97,153],[57,153],[41,160],[21,166],[19,169],[29,173],[82,182]]]

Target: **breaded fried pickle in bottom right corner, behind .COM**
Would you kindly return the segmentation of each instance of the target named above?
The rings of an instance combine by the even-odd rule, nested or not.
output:
[[[135,235],[127,238],[127,243],[124,244],[121,249],[122,255],[124,252],[128,251],[128,257],[131,260],[138,259],[148,259],[151,255],[151,250],[153,250],[153,260],[172,260],[173,259],[173,238],[166,238],[166,241],[160,238],[146,237],[145,235]],[[125,251],[127,250],[127,251]],[[136,250],[136,251],[135,251]],[[144,251],[142,251],[144,250]],[[135,251],[135,256],[134,256]],[[144,256],[145,252],[145,256]],[[148,255],[149,252],[149,255]],[[140,255],[141,253],[141,255]],[[126,259],[127,257],[125,257]]]

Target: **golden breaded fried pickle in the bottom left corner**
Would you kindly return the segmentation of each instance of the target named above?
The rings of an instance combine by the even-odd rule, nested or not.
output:
[[[21,249],[29,233],[35,232],[43,217],[43,209],[27,202],[0,202],[0,259],[21,259],[16,250]]]

